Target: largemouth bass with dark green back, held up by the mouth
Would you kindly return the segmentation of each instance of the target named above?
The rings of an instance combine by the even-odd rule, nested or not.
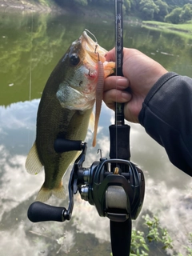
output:
[[[46,202],[51,194],[65,198],[62,177],[77,152],[58,154],[54,151],[54,141],[58,137],[82,141],[86,138],[95,98],[97,102],[101,97],[101,94],[96,96],[96,87],[114,73],[114,62],[106,62],[106,53],[84,31],[46,82],[38,106],[36,141],[26,158],[26,170],[30,174],[38,174],[42,166],[45,169],[45,182],[37,201]],[[102,78],[99,77],[101,65]]]

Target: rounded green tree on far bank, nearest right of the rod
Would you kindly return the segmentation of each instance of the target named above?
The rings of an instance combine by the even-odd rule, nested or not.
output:
[[[158,14],[159,12],[159,8],[153,0],[142,0],[140,2],[140,10],[144,19],[153,19],[154,14]]]

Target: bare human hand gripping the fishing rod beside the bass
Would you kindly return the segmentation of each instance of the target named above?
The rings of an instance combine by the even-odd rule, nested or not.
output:
[[[106,55],[106,61],[115,61],[115,49]],[[130,122],[138,122],[142,102],[154,83],[168,71],[139,50],[123,49],[122,73],[124,77],[111,76],[105,79],[103,100],[114,110],[115,102],[124,104],[124,116]],[[126,88],[130,88],[130,92]]]

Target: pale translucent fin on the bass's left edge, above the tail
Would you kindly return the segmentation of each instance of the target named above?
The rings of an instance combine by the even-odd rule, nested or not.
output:
[[[38,158],[36,142],[30,149],[30,153],[26,158],[26,170],[29,174],[36,175],[42,170],[42,163]]]

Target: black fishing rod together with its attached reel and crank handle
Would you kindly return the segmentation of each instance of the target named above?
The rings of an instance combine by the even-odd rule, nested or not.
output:
[[[122,1],[114,0],[116,75],[122,76],[123,22]],[[70,220],[74,208],[74,194],[95,206],[99,216],[110,219],[110,240],[113,256],[130,255],[131,224],[142,209],[145,179],[142,170],[130,162],[130,126],[124,123],[123,104],[116,103],[115,122],[110,130],[110,159],[100,158],[84,167],[87,144],[57,138],[57,153],[81,151],[70,172],[68,208],[34,202],[28,209],[31,222]]]

